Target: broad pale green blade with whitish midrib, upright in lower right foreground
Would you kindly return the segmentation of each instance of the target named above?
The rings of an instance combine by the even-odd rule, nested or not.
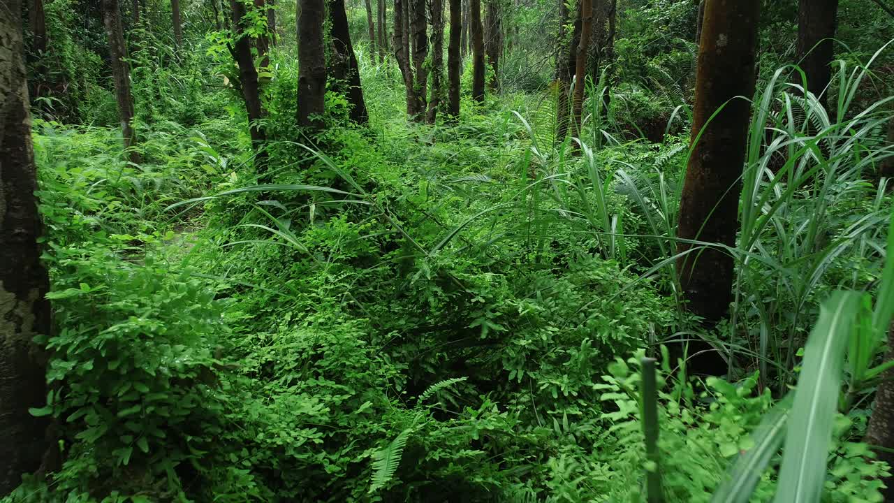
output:
[[[815,503],[826,478],[843,357],[860,309],[858,292],[834,292],[822,303],[797,380],[776,503]]]

